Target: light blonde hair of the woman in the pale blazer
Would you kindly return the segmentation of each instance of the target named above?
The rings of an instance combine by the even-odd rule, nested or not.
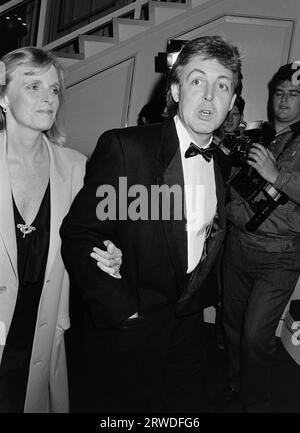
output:
[[[13,73],[19,66],[25,65],[32,68],[37,68],[38,72],[47,71],[51,66],[54,66],[59,81],[58,97],[60,109],[61,103],[63,102],[63,94],[65,89],[64,73],[62,66],[52,53],[36,47],[23,47],[5,54],[1,58],[1,62],[4,76],[1,77],[0,80],[0,96],[5,95],[6,88],[12,80]],[[65,136],[60,132],[58,126],[58,113],[51,129],[44,132],[52,143],[62,146],[65,143]],[[0,131],[4,129],[5,114],[2,110],[0,110]]]

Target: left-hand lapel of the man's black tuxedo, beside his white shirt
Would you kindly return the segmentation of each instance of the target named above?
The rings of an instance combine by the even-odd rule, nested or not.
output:
[[[187,269],[187,237],[185,230],[186,221],[184,212],[183,168],[179,140],[173,119],[164,122],[162,128],[162,138],[158,152],[158,159],[165,167],[165,171],[157,179],[157,181],[159,185],[166,185],[170,189],[175,186],[175,197],[178,198],[177,204],[176,201],[170,201],[170,203],[174,203],[175,206],[170,206],[170,218],[162,219],[162,224],[164,226],[164,232],[167,238],[172,263],[174,265],[176,274],[180,279],[186,273]],[[176,213],[179,214],[179,219],[175,219]]]

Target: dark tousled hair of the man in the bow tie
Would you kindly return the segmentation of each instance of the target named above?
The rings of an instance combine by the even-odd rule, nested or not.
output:
[[[196,56],[204,59],[216,59],[225,68],[233,72],[234,92],[242,91],[242,62],[239,49],[225,41],[221,36],[201,36],[183,45],[176,62],[169,72],[167,81],[167,111],[170,116],[177,112],[177,103],[171,94],[171,85],[179,84],[183,68]]]

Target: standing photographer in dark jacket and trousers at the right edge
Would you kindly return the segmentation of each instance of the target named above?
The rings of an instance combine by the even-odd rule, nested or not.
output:
[[[226,400],[242,396],[248,412],[271,410],[275,332],[300,273],[300,85],[295,72],[292,64],[284,65],[269,83],[272,122],[264,122],[261,143],[251,146],[245,167],[231,181],[227,205]]]

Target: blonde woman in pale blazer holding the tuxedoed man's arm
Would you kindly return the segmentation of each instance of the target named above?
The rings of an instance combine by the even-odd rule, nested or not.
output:
[[[1,60],[0,412],[68,412],[69,280],[59,228],[83,184],[86,158],[62,147],[64,79],[56,58],[25,47]],[[92,258],[118,277],[120,252],[105,246]]]

